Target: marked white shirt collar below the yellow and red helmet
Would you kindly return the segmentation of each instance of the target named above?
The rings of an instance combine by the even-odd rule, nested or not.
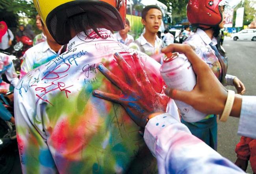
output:
[[[87,29],[86,32],[88,33],[88,36],[85,35],[83,31],[78,33],[74,38],[72,38],[69,41],[68,49],[74,48],[79,43],[84,43],[84,42],[92,42],[92,41],[100,41],[100,40],[116,41],[115,38],[113,37],[112,32],[109,31],[108,29],[97,28],[97,30],[100,36],[102,36],[102,38],[99,37],[97,33],[93,31],[93,29]]]

